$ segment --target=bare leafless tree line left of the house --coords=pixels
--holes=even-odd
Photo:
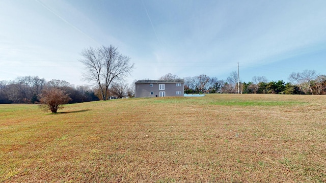
[[[74,86],[68,81],[52,79],[46,81],[38,76],[20,76],[13,81],[0,81],[0,104],[38,104],[41,94],[50,88],[57,88],[68,94],[69,104],[102,100],[100,88]],[[106,91],[107,99],[133,97],[134,90],[124,82],[113,82]]]

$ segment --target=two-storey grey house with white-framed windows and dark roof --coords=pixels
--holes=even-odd
[[[135,97],[183,97],[184,80],[139,80],[135,82]]]

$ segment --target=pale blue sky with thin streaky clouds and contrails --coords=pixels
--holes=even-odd
[[[113,45],[126,82],[206,74],[289,82],[326,74],[326,1],[0,0],[0,81],[83,81],[83,49]]]

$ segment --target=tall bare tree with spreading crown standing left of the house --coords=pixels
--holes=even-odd
[[[133,69],[130,58],[120,54],[112,45],[84,49],[82,56],[84,58],[79,61],[86,69],[84,79],[96,83],[102,100],[107,99],[108,87],[112,81],[123,80]]]

